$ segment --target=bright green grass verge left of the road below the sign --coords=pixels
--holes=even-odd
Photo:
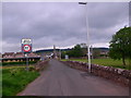
[[[2,70],[2,96],[15,96],[39,75],[38,72],[25,71],[25,68]]]

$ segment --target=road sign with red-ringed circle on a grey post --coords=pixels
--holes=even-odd
[[[22,52],[24,52],[26,58],[26,70],[28,71],[28,57],[27,53],[32,52],[32,39],[23,38],[22,39]]]

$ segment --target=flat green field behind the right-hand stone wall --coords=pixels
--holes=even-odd
[[[87,59],[70,59],[71,61],[81,61],[81,62],[87,62]],[[67,61],[67,60],[62,60]],[[131,70],[131,66],[129,68],[129,60],[126,60],[127,62],[127,70]],[[119,69],[124,69],[122,65],[122,60],[114,60],[114,59],[93,59],[92,60],[93,64],[99,64],[99,65],[105,65],[105,66],[114,66],[114,68],[119,68]]]

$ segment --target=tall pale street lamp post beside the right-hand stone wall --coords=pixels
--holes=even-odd
[[[85,4],[85,11],[86,11],[86,27],[87,27],[87,58],[88,58],[88,72],[91,73],[91,52],[90,52],[90,34],[88,34],[88,19],[87,19],[87,2],[79,2],[79,4]]]

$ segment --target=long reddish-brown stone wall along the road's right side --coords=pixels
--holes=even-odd
[[[87,72],[87,64],[79,61],[61,61],[69,65],[70,68],[78,69],[84,72]],[[97,76],[111,79],[116,83],[120,83],[124,86],[129,86],[131,83],[131,71],[116,69],[112,66],[104,66],[98,64],[92,64],[92,73]]]

